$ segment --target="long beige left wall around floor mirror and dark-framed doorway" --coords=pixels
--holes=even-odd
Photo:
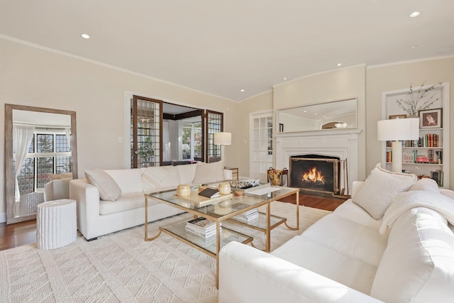
[[[124,167],[125,143],[118,137],[124,137],[125,92],[222,111],[227,131],[238,129],[237,102],[0,39],[1,121],[6,103],[76,111],[79,177],[86,168]],[[5,184],[3,122],[0,150],[0,184]],[[238,162],[237,155],[226,148],[227,164]],[[6,212],[4,194],[2,186],[0,216]]]

